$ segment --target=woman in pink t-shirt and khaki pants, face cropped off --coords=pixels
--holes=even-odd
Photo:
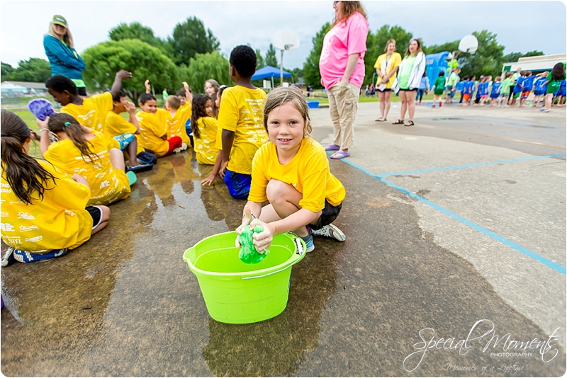
[[[333,142],[325,147],[336,151],[331,159],[350,156],[357,117],[360,88],[364,80],[364,52],[368,21],[360,1],[333,1],[335,22],[323,39],[319,71],[327,89],[333,124]]]

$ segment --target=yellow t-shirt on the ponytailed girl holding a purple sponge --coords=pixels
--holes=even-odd
[[[97,156],[91,162],[89,157],[83,159],[81,151],[70,139],[50,144],[44,154],[47,161],[61,171],[72,175],[77,173],[86,178],[91,187],[91,198],[88,205],[110,205],[130,195],[128,176],[120,169],[113,169],[108,151],[113,148],[111,138],[101,132],[91,130],[94,138],[89,140]]]

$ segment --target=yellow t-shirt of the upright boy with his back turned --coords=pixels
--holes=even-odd
[[[252,173],[252,158],[257,149],[268,141],[268,133],[262,124],[265,102],[266,92],[260,88],[233,86],[223,91],[218,127],[235,132],[228,170],[247,175]]]

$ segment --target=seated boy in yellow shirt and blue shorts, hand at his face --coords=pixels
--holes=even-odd
[[[137,154],[144,151],[138,144],[136,135],[140,134],[140,126],[136,119],[136,105],[126,100],[126,94],[119,91],[118,95],[113,96],[113,108],[106,115],[105,130],[109,137],[113,137],[120,143],[120,150],[124,154],[128,153],[128,169],[136,169],[138,164]],[[128,112],[128,120],[125,120],[120,113]]]

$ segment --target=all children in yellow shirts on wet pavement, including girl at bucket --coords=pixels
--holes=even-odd
[[[1,237],[10,247],[2,265],[62,256],[106,227],[108,205],[130,194],[126,172],[151,168],[155,159],[191,146],[189,120],[198,163],[213,165],[201,183],[210,185],[218,174],[232,197],[248,198],[237,232],[262,224],[264,231],[254,234],[258,251],[286,231],[296,232],[308,251],[313,235],[344,241],[331,224],[344,187],[330,173],[325,150],[309,136],[303,95],[276,88],[266,100],[252,85],[256,55],[248,46],[235,47],[229,62],[235,86],[220,88],[214,103],[208,94],[193,96],[184,83],[177,96],[167,97],[166,109],[158,109],[146,81],[135,113],[120,91],[132,74],[119,71],[111,91],[89,98],[79,96],[65,76],[48,79],[47,90],[62,108],[37,120],[39,136],[2,110]],[[45,160],[28,155],[32,140],[40,142]],[[265,200],[270,205],[262,207]]]

